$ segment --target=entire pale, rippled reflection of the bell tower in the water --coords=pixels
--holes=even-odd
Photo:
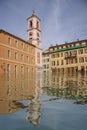
[[[34,98],[29,101],[26,120],[33,125],[40,124],[41,117],[41,89],[42,89],[42,73],[37,71],[36,73],[36,87]]]

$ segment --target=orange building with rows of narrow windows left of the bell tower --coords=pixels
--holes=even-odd
[[[11,77],[11,74],[13,76]],[[0,30],[0,76],[13,80],[35,74],[35,46]]]

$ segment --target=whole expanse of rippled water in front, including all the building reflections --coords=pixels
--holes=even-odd
[[[87,130],[87,75],[0,79],[0,130]]]

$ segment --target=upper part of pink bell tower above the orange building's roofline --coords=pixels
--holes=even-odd
[[[40,48],[40,19],[36,16],[34,11],[32,13],[32,16],[27,19],[27,23],[28,42]]]

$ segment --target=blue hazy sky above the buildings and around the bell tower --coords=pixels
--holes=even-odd
[[[0,29],[27,40],[27,18],[41,19],[41,48],[87,39],[87,0],[0,0]]]

